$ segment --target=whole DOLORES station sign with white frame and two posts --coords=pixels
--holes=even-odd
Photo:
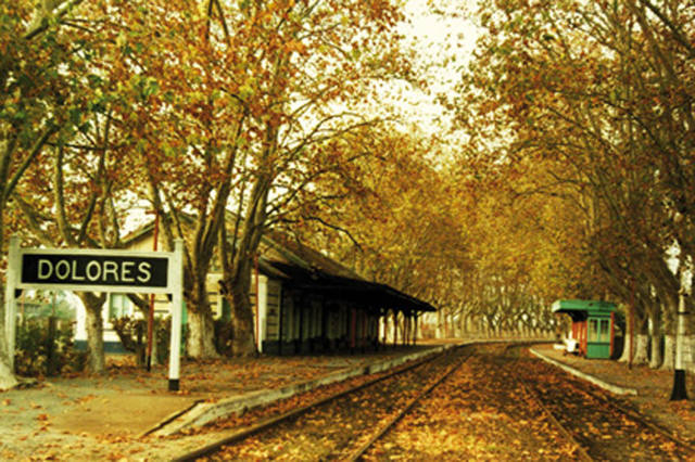
[[[10,239],[5,286],[5,336],[14,370],[17,288],[45,288],[122,294],[172,294],[169,389],[179,389],[184,241],[174,252],[129,252],[84,248],[20,248]]]

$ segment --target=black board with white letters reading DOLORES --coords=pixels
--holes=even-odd
[[[166,287],[168,258],[115,255],[22,255],[23,284]]]

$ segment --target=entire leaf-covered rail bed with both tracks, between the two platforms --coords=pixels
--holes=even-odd
[[[450,350],[178,460],[692,460],[695,448],[509,345]]]

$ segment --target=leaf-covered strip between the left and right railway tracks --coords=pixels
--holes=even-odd
[[[479,345],[364,457],[381,460],[576,460],[547,415],[522,399],[504,359],[509,345]]]

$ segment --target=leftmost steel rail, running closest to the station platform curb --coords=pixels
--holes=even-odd
[[[429,355],[429,356],[427,356],[427,357],[425,357],[422,359],[414,361],[410,364],[407,364],[407,365],[402,367],[402,368],[397,368],[397,369],[395,369],[395,370],[393,370],[391,372],[388,372],[388,373],[386,373],[386,374],[383,374],[383,375],[381,375],[379,377],[376,377],[376,378],[372,378],[370,381],[367,381],[367,382],[365,382],[363,384],[356,385],[354,387],[348,388],[348,389],[342,390],[342,392],[338,392],[338,393],[336,393],[333,395],[330,395],[328,397],[318,399],[318,400],[316,400],[314,402],[311,402],[311,403],[308,403],[306,406],[302,406],[300,408],[292,409],[292,410],[290,410],[288,412],[285,412],[282,414],[265,419],[265,420],[263,420],[261,422],[257,422],[257,423],[255,423],[253,425],[247,426],[247,427],[244,427],[242,429],[235,431],[231,434],[229,434],[227,436],[224,436],[223,438],[220,438],[220,439],[218,439],[216,441],[213,441],[213,442],[207,444],[207,445],[205,445],[205,446],[203,446],[201,448],[198,448],[198,449],[194,449],[194,450],[192,450],[190,452],[187,452],[187,453],[174,459],[173,461],[174,462],[188,462],[188,461],[194,461],[195,459],[199,459],[199,458],[202,458],[202,457],[205,457],[205,455],[210,455],[212,453],[215,453],[215,452],[219,451],[224,446],[228,446],[228,445],[232,445],[235,442],[239,442],[239,441],[241,441],[243,439],[247,439],[248,437],[250,437],[252,435],[255,435],[255,434],[261,433],[261,432],[263,432],[265,429],[271,428],[271,427],[280,424],[281,422],[291,420],[293,418],[298,418],[298,416],[304,414],[305,412],[307,412],[307,411],[309,411],[312,409],[319,408],[320,406],[324,406],[324,405],[326,405],[328,402],[337,400],[337,399],[339,399],[341,397],[348,396],[348,395],[350,395],[352,393],[358,392],[361,389],[364,389],[364,388],[367,388],[369,386],[372,386],[372,385],[375,385],[375,384],[377,384],[379,382],[386,381],[387,378],[391,378],[391,377],[393,377],[395,375],[403,374],[405,372],[414,370],[414,369],[416,369],[416,368],[418,368],[418,367],[420,367],[422,364],[432,362],[438,358],[444,357],[445,355],[450,355],[453,351],[455,351],[456,349],[459,349],[459,348],[463,348],[463,347],[464,346],[456,346],[456,347],[451,348],[451,349],[446,349],[446,350],[443,350],[443,351],[440,351],[440,352],[435,352],[435,354]]]

